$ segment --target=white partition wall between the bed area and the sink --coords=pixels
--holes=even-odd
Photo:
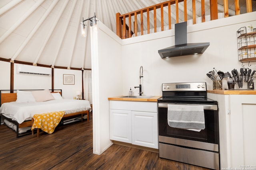
[[[108,97],[122,94],[122,46],[116,34],[100,21],[97,25],[98,31],[91,35],[93,153],[101,154],[112,145]]]

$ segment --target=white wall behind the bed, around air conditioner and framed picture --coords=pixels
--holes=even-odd
[[[14,90],[44,90],[52,89],[52,76],[18,74],[14,63]],[[38,66],[35,66],[38,68]],[[0,61],[0,90],[10,90],[10,62]],[[51,71],[52,68],[46,68]],[[75,84],[63,84],[63,74],[74,74]],[[63,98],[72,99],[76,91],[82,92],[82,70],[67,70],[54,68],[54,89],[62,89]]]

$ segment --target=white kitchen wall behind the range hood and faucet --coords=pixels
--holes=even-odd
[[[130,87],[135,95],[139,89],[140,66],[143,66],[142,92],[147,96],[162,95],[162,83],[169,82],[206,82],[212,90],[212,80],[206,73],[216,68],[223,72],[239,70],[237,35],[240,27],[256,27],[256,12],[222,18],[219,20],[189,25],[188,43],[210,42],[210,46],[201,55],[190,55],[161,59],[159,49],[174,45],[174,29],[123,40],[122,70],[123,95]],[[255,63],[250,63],[256,70]],[[248,67],[248,63],[244,63]],[[226,79],[223,88],[228,88]],[[122,95],[120,94],[120,95]]]

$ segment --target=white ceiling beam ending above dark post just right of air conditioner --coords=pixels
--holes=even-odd
[[[59,41],[59,44],[58,44],[58,47],[57,47],[57,51],[56,51],[56,54],[55,54],[54,59],[53,59],[53,62],[52,62],[52,66],[55,65],[56,60],[57,60],[57,58],[58,58],[58,55],[59,55],[59,53],[60,53],[60,48],[61,48],[61,46],[62,46],[64,37],[65,37],[66,32],[67,32],[67,29],[68,29],[69,22],[70,22],[70,20],[71,20],[72,14],[73,14],[73,12],[74,12],[74,9],[75,9],[75,6],[76,6],[76,1],[77,1],[77,0],[74,0],[74,1],[73,1],[72,6],[71,6],[71,8],[70,8],[70,11],[69,11],[69,14],[68,14],[68,18],[66,19],[66,23],[65,23],[65,25],[64,25],[64,29],[63,29],[62,34],[61,34],[61,36],[60,36],[60,41]]]

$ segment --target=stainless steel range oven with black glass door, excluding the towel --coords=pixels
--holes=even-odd
[[[171,127],[168,106],[200,106],[205,128]],[[190,112],[186,113],[190,114]],[[218,170],[220,167],[218,103],[207,98],[205,82],[164,83],[158,99],[159,157]]]

